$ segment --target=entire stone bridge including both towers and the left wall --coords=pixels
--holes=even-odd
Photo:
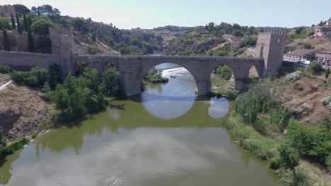
[[[281,66],[286,45],[286,32],[262,32],[257,38],[255,58],[202,57],[202,56],[77,56],[72,52],[74,35],[72,30],[51,29],[52,54],[0,51],[0,63],[14,68],[28,69],[35,66],[48,68],[57,63],[66,75],[84,66],[97,68],[100,73],[115,65],[122,74],[122,86],[127,96],[141,93],[141,81],[151,68],[162,63],[175,63],[186,68],[193,75],[197,92],[206,95],[211,91],[210,75],[218,66],[229,66],[236,83],[236,89],[248,87],[249,70],[257,69],[260,77],[277,72]]]

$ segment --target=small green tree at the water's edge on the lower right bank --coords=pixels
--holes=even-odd
[[[288,168],[293,171],[294,177],[296,177],[296,166],[299,165],[298,154],[296,154],[294,149],[290,148],[286,144],[281,145],[278,151],[281,158],[281,164],[285,168]]]

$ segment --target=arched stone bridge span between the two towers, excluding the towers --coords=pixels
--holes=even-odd
[[[122,86],[127,96],[141,93],[141,81],[153,67],[162,63],[175,63],[186,68],[194,77],[200,95],[211,91],[211,73],[226,65],[231,68],[236,89],[247,89],[249,70],[254,66],[262,74],[263,58],[196,57],[196,56],[72,56],[71,71],[77,64],[96,68],[102,72],[108,66],[117,66],[122,75]]]

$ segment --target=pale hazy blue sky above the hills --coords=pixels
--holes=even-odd
[[[50,4],[64,16],[91,17],[120,28],[209,22],[296,27],[331,17],[330,0],[0,0],[0,4],[24,4],[28,8]]]

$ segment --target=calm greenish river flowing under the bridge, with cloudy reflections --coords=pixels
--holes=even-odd
[[[183,68],[163,75],[167,84],[112,101],[107,111],[78,126],[50,130],[8,156],[1,163],[0,184],[282,185],[222,127],[231,101],[196,98],[192,75]]]

